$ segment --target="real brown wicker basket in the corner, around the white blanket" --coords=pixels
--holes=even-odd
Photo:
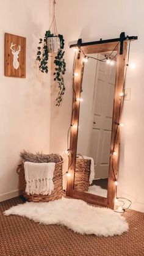
[[[63,188],[62,188],[62,164],[63,161],[56,163],[54,169],[53,183],[54,183],[54,191],[52,191],[51,195],[41,195],[41,194],[30,194],[27,195],[25,192],[26,189],[26,180],[24,177],[24,162],[19,164],[19,169],[23,173],[23,196],[27,201],[32,202],[48,202],[62,198]]]

